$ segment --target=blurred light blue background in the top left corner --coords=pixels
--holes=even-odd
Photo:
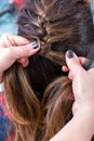
[[[25,0],[0,0],[0,36],[4,33],[16,34],[16,13]]]

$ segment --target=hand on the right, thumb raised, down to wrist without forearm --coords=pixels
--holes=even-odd
[[[94,68],[85,70],[81,59],[72,52],[66,53],[66,63],[69,69],[69,79],[72,80],[75,95],[73,114],[78,108],[90,108],[94,112]]]

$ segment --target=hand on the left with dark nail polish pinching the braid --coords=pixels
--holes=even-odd
[[[38,50],[38,42],[30,43],[21,36],[3,35],[0,38],[0,82],[3,72],[11,67],[15,61],[25,67],[29,64],[28,57]]]

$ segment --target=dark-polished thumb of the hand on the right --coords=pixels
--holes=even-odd
[[[79,57],[71,50],[66,52],[66,63],[72,76],[76,76],[78,73],[85,72],[80,64]]]

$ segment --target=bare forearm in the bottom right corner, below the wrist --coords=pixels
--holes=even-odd
[[[50,141],[91,141],[94,133],[94,111],[78,111],[72,119]]]

